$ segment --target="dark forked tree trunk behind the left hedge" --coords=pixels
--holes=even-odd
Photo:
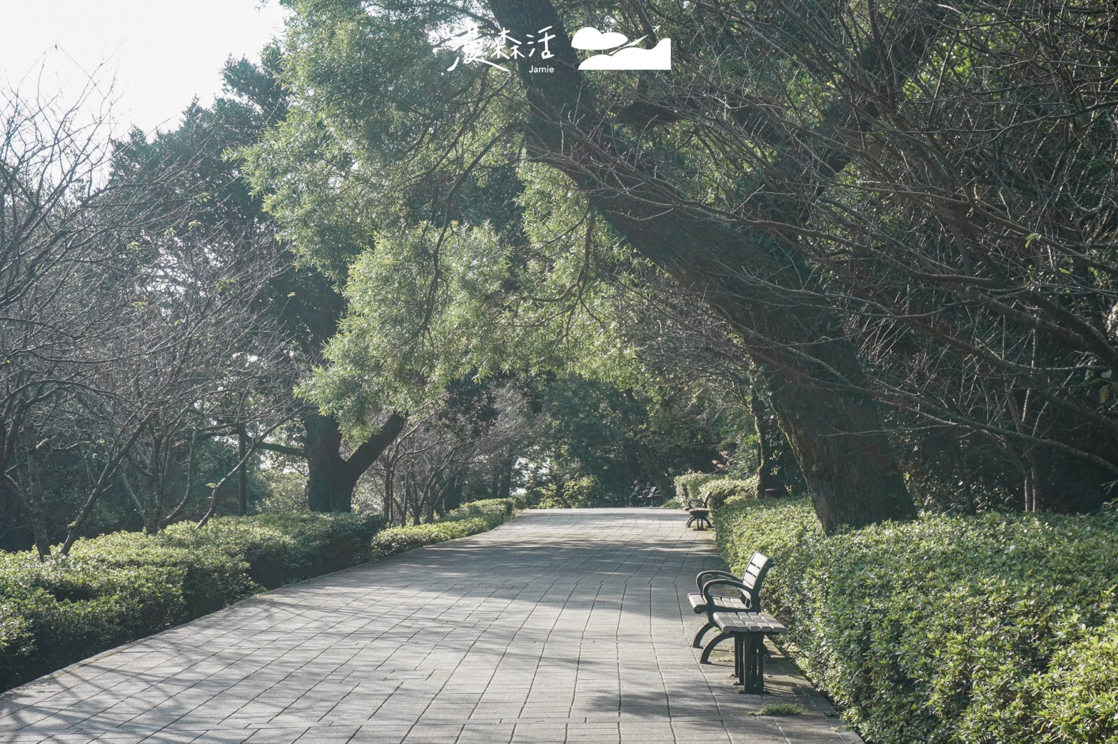
[[[392,413],[380,430],[361,443],[349,459],[341,455],[338,422],[318,412],[303,419],[306,430],[306,504],[312,512],[351,512],[353,488],[369,466],[404,428],[404,417]]]

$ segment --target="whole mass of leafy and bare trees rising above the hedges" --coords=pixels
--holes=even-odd
[[[828,532],[1112,498],[1112,9],[286,4],[173,131],[6,99],[0,500],[42,550],[264,470],[397,521],[716,465]],[[584,27],[671,69],[580,69]]]

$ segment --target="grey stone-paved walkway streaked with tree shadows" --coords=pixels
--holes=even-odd
[[[11,690],[0,742],[858,742],[787,664],[699,664],[680,512],[528,512],[286,586]],[[798,702],[800,716],[752,716]]]

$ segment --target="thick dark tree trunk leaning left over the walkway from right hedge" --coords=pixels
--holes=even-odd
[[[552,74],[519,66],[531,106],[532,154],[575,181],[590,203],[645,258],[707,302],[770,370],[770,401],[799,459],[824,530],[916,515],[855,349],[817,298],[779,233],[742,232],[688,206],[642,170],[639,156],[608,136],[587,101],[570,39],[546,0],[491,0],[512,31],[556,35]],[[605,132],[605,133],[604,133]]]

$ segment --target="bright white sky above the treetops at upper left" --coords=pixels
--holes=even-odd
[[[257,59],[283,17],[277,0],[0,0],[0,86],[29,93],[41,68],[44,93],[72,101],[94,74],[113,84],[115,134],[165,131],[221,93],[227,57]]]

